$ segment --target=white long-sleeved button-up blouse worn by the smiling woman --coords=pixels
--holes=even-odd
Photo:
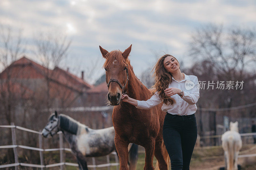
[[[196,102],[199,99],[199,85],[198,79],[193,75],[185,75],[184,80],[180,82],[176,81],[172,77],[172,83],[169,85],[170,87],[175,87],[180,90],[183,90],[184,96],[181,98],[178,94],[174,94],[171,96],[172,99],[176,100],[176,103],[173,105],[166,105],[163,103],[162,110],[164,112],[168,112],[172,115],[192,115],[196,112]],[[140,109],[150,109],[162,102],[159,97],[159,93],[156,92],[150,99],[147,101],[137,100],[138,106]]]

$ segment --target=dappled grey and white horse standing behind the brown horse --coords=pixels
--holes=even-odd
[[[58,131],[62,131],[64,138],[68,141],[72,153],[76,156],[79,169],[88,170],[86,157],[106,156],[116,151],[113,126],[105,129],[90,129],[67,115],[58,115],[55,111],[42,130],[42,134],[44,137],[50,137]],[[129,156],[130,170],[135,170],[138,145],[131,145]]]

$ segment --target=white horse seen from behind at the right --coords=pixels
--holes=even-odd
[[[221,136],[222,148],[227,162],[227,170],[237,170],[237,158],[242,148],[241,135],[238,133],[238,122],[230,122],[230,130]]]

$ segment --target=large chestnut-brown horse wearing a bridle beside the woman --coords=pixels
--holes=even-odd
[[[153,154],[161,170],[167,170],[166,160],[169,158],[163,142],[163,124],[165,113],[161,105],[149,110],[142,110],[121,101],[121,93],[127,92],[129,97],[137,100],[148,100],[152,96],[148,88],[135,76],[128,59],[132,45],[123,53],[119,50],[108,52],[100,47],[106,59],[106,82],[108,100],[115,105],[112,121],[115,128],[115,144],[119,155],[120,170],[128,170],[128,144],[135,143],[145,148],[144,170],[153,170]],[[169,165],[169,160],[168,160]],[[158,166],[156,167],[158,169]]]

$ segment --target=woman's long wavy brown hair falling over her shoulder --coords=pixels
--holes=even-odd
[[[164,100],[164,104],[173,105],[174,103],[176,103],[176,101],[174,99],[172,99],[170,96],[166,96],[164,93],[164,90],[166,88],[168,88],[170,83],[172,83],[172,74],[167,72],[167,70],[164,68],[164,59],[167,56],[172,56],[172,55],[170,55],[170,54],[163,55],[161,58],[159,58],[159,60],[156,62],[156,65],[153,68],[153,70],[155,69],[154,77],[155,77],[155,82],[156,82],[155,85],[153,85],[153,88],[155,88],[153,93],[159,92],[159,97],[162,100]],[[172,57],[175,58],[174,56],[172,56]],[[177,59],[175,58],[175,60],[177,60]],[[179,61],[178,61],[178,63],[179,63]]]

